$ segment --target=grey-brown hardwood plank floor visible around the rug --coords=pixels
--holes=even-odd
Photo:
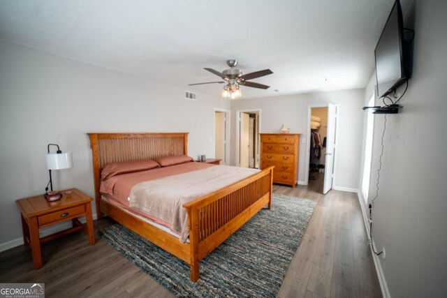
[[[321,193],[322,174],[308,186],[274,186],[274,193],[316,200],[316,208],[278,297],[381,297],[357,195]],[[113,223],[95,221],[95,230]],[[114,248],[85,232],[42,245],[44,266],[33,269],[31,251],[0,253],[0,283],[45,283],[46,297],[173,297]]]

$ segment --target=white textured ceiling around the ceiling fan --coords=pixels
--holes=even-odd
[[[365,87],[393,0],[0,1],[0,39],[190,91],[270,68],[243,98]]]

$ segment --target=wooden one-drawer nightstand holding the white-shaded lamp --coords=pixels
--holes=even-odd
[[[66,195],[66,191],[71,191],[71,195]],[[91,216],[91,201],[93,199],[76,188],[61,191],[61,194],[62,198],[54,202],[47,202],[43,195],[15,201],[22,213],[23,240],[25,245],[31,246],[34,269],[43,266],[41,254],[41,244],[43,242],[83,229],[87,232],[89,244],[95,244],[93,217]],[[82,225],[78,220],[78,216],[83,215],[87,220],[86,225]],[[51,234],[42,239],[39,237],[39,228],[61,223],[68,219],[73,222],[73,228]]]

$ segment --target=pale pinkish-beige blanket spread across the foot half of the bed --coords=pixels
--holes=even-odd
[[[167,223],[184,243],[189,236],[183,204],[259,172],[245,167],[217,165],[203,170],[141,182],[133,186],[129,206]]]

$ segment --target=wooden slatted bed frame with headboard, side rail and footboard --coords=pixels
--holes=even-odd
[[[188,133],[88,133],[93,154],[96,214],[101,212],[153,244],[189,263],[191,281],[199,278],[199,262],[266,204],[272,208],[273,167],[186,203],[189,243],[138,216],[101,200],[101,170],[108,163],[187,155]]]

